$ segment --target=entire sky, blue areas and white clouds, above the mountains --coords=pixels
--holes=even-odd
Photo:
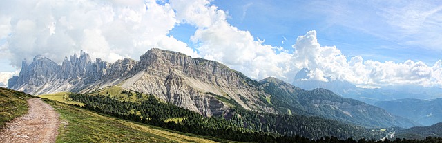
[[[157,47],[247,76],[442,87],[442,1],[3,0],[0,82],[37,55],[115,62]]]

